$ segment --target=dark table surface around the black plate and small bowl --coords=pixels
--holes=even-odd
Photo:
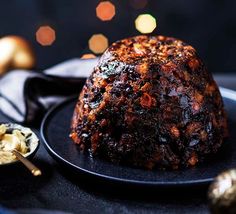
[[[236,75],[215,75],[215,79],[236,90]],[[0,114],[0,121],[9,119]],[[33,129],[39,135],[39,127]],[[43,145],[33,161],[42,169],[41,177],[31,176],[21,164],[0,169],[1,205],[71,213],[208,213],[207,186],[144,189],[90,180],[57,164]]]

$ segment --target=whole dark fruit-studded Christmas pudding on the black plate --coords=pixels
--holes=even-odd
[[[196,50],[165,36],[113,43],[87,79],[71,138],[84,152],[142,168],[194,166],[227,133],[219,89]]]

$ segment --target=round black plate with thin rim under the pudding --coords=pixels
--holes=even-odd
[[[115,165],[89,155],[81,154],[69,138],[70,122],[76,98],[71,98],[45,116],[41,135],[50,155],[78,172],[84,172],[113,182],[149,186],[207,184],[223,170],[236,166],[236,101],[224,98],[228,113],[230,138],[214,160],[195,168],[176,171],[148,171]]]

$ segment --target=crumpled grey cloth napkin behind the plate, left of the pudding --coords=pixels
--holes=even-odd
[[[43,72],[14,70],[0,79],[0,110],[31,123],[63,99],[78,94],[98,59],[72,59]]]

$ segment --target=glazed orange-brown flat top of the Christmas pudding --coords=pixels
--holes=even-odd
[[[181,40],[165,36],[136,36],[113,43],[103,55],[127,64],[183,62],[196,55],[195,49]]]

